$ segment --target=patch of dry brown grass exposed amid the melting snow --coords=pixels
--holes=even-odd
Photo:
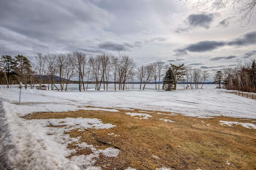
[[[200,119],[182,115],[160,115],[147,113],[149,119],[135,119],[127,112],[76,111],[64,113],[38,113],[25,119],[60,119],[66,117],[98,118],[103,123],[117,125],[110,129],[88,129],[104,142],[111,142],[120,148],[117,158],[100,155],[95,166],[104,170],[122,170],[133,167],[140,170],[154,170],[167,167],[175,170],[192,169],[256,169],[256,129],[242,126],[228,127],[219,121],[252,123],[255,120],[239,120],[230,117]],[[143,113],[143,112],[141,112]],[[164,112],[161,112],[164,113]],[[170,113],[166,113],[170,114]],[[175,123],[159,119],[170,119]],[[204,121],[204,123],[202,122]],[[207,125],[208,124],[208,125]],[[114,133],[114,135],[108,135]],[[84,130],[74,129],[70,137],[81,136],[79,142],[93,144],[99,149],[110,147],[97,142],[94,136]],[[77,143],[68,147],[77,149]],[[76,154],[90,154],[88,148],[77,150]],[[158,158],[156,157],[158,156]],[[228,160],[231,164],[226,164]]]

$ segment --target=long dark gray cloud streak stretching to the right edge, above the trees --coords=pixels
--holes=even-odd
[[[231,41],[202,41],[202,42],[197,42],[193,43],[190,45],[187,45],[184,48],[178,48],[174,49],[174,52],[176,53],[176,56],[179,55],[186,55],[187,51],[190,52],[205,52],[205,51],[212,51],[214,49],[218,49],[220,47],[224,47],[226,45],[228,46],[245,46],[245,45],[254,45],[256,44],[256,32],[248,32],[234,40]],[[234,58],[234,57],[231,57]],[[230,58],[227,58],[230,59]]]

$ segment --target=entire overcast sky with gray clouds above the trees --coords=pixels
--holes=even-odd
[[[177,1],[177,0],[176,0]],[[190,0],[0,0],[0,55],[82,51],[162,60],[208,70],[256,58],[256,19],[212,13]]]

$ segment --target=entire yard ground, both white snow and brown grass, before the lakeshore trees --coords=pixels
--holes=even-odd
[[[227,158],[231,169],[248,167],[249,163],[255,168],[256,101],[224,91],[22,89],[18,105],[19,89],[0,89],[0,158],[14,169],[107,169],[104,166],[110,159],[126,160],[123,168],[138,169],[146,161],[141,169],[197,169],[206,167],[207,158],[217,154],[218,158],[208,160],[215,168],[214,161],[224,168]],[[29,115],[43,112],[48,114]],[[54,118],[57,113],[51,112],[64,113]],[[101,146],[92,137],[85,140],[91,134],[84,129],[120,149]],[[244,144],[238,149],[241,140]],[[87,154],[78,154],[85,151]],[[134,160],[127,159],[128,154]],[[239,154],[243,155],[240,162],[236,160]],[[241,163],[245,158],[246,162]],[[196,159],[202,161],[196,163]]]

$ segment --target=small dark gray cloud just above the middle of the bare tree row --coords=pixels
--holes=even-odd
[[[133,45],[130,43],[115,43],[112,41],[107,41],[100,43],[98,47],[109,51],[128,51],[131,47],[133,47]]]

